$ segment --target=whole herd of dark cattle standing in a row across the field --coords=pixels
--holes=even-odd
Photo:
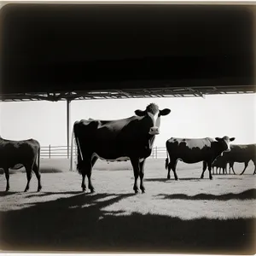
[[[136,115],[126,119],[99,120],[82,119],[73,125],[71,145],[71,169],[73,167],[73,141],[78,148],[77,170],[82,175],[81,187],[86,189],[85,177],[88,178],[90,192],[95,189],[91,183],[91,171],[96,160],[120,161],[131,160],[134,172],[135,193],[138,192],[137,179],[140,177],[140,189],[145,192],[143,183],[145,160],[152,152],[154,138],[160,134],[160,117],[171,113],[169,108],[160,110],[151,103],[145,110],[137,109]],[[208,167],[209,178],[212,179],[212,167],[222,168],[226,172],[227,163],[233,172],[234,162],[244,162],[245,172],[248,162],[253,160],[256,166],[256,144],[230,145],[235,137],[207,137],[201,139],[175,138],[167,140],[166,159],[167,178],[170,171],[177,180],[177,160],[185,163],[203,162],[201,178]],[[170,159],[170,162],[169,162]],[[0,137],[0,168],[6,177],[6,191],[9,191],[9,168],[26,169],[26,189],[29,189],[32,171],[38,178],[38,191],[42,189],[39,173],[40,144],[34,139],[10,141]],[[234,172],[235,173],[235,172]],[[256,167],[253,174],[256,173]]]

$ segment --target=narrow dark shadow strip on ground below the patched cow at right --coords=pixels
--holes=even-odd
[[[256,199],[256,189],[247,189],[241,193],[228,193],[223,195],[212,195],[212,194],[197,194],[197,195],[185,195],[185,194],[173,194],[173,195],[166,195],[166,194],[159,194],[156,197],[160,197],[161,199],[179,199],[179,200],[208,200],[208,201],[228,201],[228,200],[250,200]]]

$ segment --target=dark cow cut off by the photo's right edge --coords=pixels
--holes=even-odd
[[[241,174],[243,174],[247,169],[249,161],[253,160],[253,164],[254,164],[253,174],[256,173],[256,144],[246,144],[246,145],[231,144],[230,152],[225,152],[223,157],[230,164],[230,168],[234,173],[235,173],[234,163],[235,162],[244,163],[244,169],[241,172]]]

